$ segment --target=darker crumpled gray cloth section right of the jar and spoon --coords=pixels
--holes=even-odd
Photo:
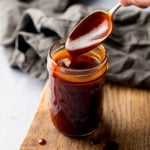
[[[150,13],[122,11],[104,42],[109,53],[107,80],[134,87],[150,87]]]

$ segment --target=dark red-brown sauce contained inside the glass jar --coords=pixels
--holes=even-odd
[[[90,55],[80,55],[72,62],[66,52],[54,57],[59,66],[75,69],[87,69],[97,66],[98,61]],[[73,58],[75,59],[75,58]],[[68,78],[62,79],[60,68],[54,67],[50,78],[51,116],[58,130],[68,136],[86,135],[99,124],[102,115],[102,86],[104,78],[77,83]],[[69,80],[69,81],[68,81]]]

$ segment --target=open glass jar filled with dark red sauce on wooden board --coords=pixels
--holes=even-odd
[[[56,41],[47,57],[51,118],[63,134],[86,136],[95,131],[102,119],[108,56],[99,45],[72,57],[65,42],[66,39]]]

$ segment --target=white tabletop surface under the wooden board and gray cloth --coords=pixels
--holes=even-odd
[[[109,9],[117,0],[91,0],[87,5]],[[17,150],[39,104],[44,81],[9,67],[5,49],[0,46],[0,146]]]

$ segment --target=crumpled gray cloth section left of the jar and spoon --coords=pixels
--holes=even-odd
[[[47,78],[46,57],[50,46],[66,37],[91,12],[91,8],[70,6],[71,3],[71,0],[0,2],[1,44],[8,50],[12,67],[39,79]]]

